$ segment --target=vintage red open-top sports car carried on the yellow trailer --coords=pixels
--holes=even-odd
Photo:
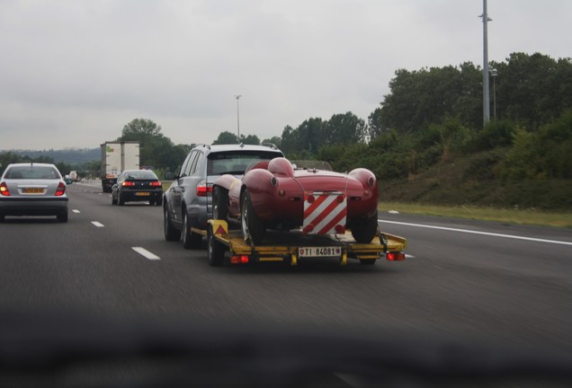
[[[366,169],[349,173],[295,169],[278,157],[249,167],[242,180],[221,175],[213,184],[213,216],[240,223],[259,244],[266,229],[344,234],[371,242],[378,227],[378,181]]]

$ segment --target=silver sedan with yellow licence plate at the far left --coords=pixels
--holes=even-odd
[[[5,216],[57,216],[67,222],[67,186],[50,163],[8,164],[0,178],[0,221]]]

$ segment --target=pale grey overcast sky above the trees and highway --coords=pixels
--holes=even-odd
[[[0,150],[260,139],[351,110],[398,68],[482,66],[482,0],[0,0]],[[489,59],[572,57],[572,1],[488,0]],[[502,76],[502,75],[499,75]]]

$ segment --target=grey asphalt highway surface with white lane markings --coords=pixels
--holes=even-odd
[[[162,208],[69,187],[67,224],[0,224],[0,309],[306,327],[572,354],[572,231],[380,214],[407,260],[212,268],[166,242]]]

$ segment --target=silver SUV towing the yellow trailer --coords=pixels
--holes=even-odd
[[[284,156],[275,145],[195,145],[176,172],[163,195],[165,240],[183,242],[183,247],[200,248],[202,235],[212,217],[212,183],[222,174],[244,175],[248,165]]]

